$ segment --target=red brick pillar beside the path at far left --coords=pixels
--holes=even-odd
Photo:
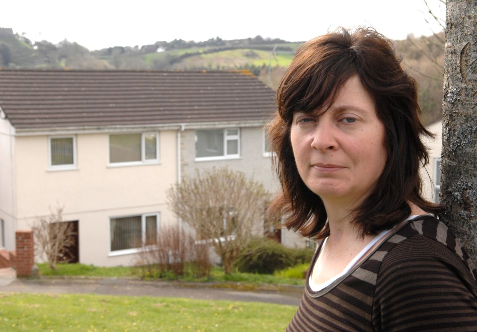
[[[12,267],[18,277],[29,277],[35,265],[33,230],[17,230],[15,232],[15,253]]]

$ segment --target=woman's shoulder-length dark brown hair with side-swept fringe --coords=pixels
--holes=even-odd
[[[353,222],[360,234],[376,234],[406,219],[408,202],[437,214],[442,206],[421,197],[419,168],[429,161],[420,135],[424,127],[417,104],[417,85],[400,66],[391,42],[373,29],[345,29],[305,43],[284,74],[277,92],[278,110],[268,125],[274,166],[282,191],[270,213],[284,216],[287,228],[323,238],[329,234],[326,211],[318,195],[301,179],[290,142],[296,111],[314,112],[331,105],[343,84],[357,75],[375,101],[385,126],[387,161],[374,191],[357,207]]]

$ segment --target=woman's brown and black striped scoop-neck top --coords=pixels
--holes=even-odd
[[[420,216],[329,286],[315,292],[307,282],[287,332],[477,331],[476,279],[447,226]]]

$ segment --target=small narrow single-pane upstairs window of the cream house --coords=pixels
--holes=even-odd
[[[48,148],[51,169],[76,168],[75,136],[50,137]]]

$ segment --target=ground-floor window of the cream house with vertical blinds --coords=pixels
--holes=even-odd
[[[111,252],[133,253],[143,244],[157,244],[158,229],[159,214],[111,218]]]

